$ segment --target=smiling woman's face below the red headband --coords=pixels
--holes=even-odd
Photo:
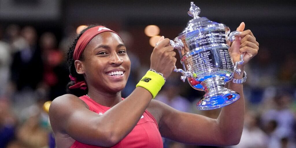
[[[87,85],[110,94],[121,91],[128,80],[131,61],[121,38],[112,32],[95,36],[83,52]]]

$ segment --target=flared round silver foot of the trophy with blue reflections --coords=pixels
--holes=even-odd
[[[201,84],[205,87],[206,94],[196,104],[200,110],[213,110],[237,101],[240,95],[225,88],[225,77],[209,78]]]

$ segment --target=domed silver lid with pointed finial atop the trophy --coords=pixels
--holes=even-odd
[[[212,22],[206,17],[199,17],[198,15],[200,14],[200,8],[197,7],[193,2],[191,2],[190,9],[188,11],[188,15],[193,17],[192,20],[190,20],[187,23],[186,28],[182,31],[181,34],[191,34],[191,33],[196,33],[196,31],[200,31],[201,28],[210,28],[210,27],[215,27],[215,26],[220,26],[220,27],[227,27],[224,24],[220,24],[217,22]]]

